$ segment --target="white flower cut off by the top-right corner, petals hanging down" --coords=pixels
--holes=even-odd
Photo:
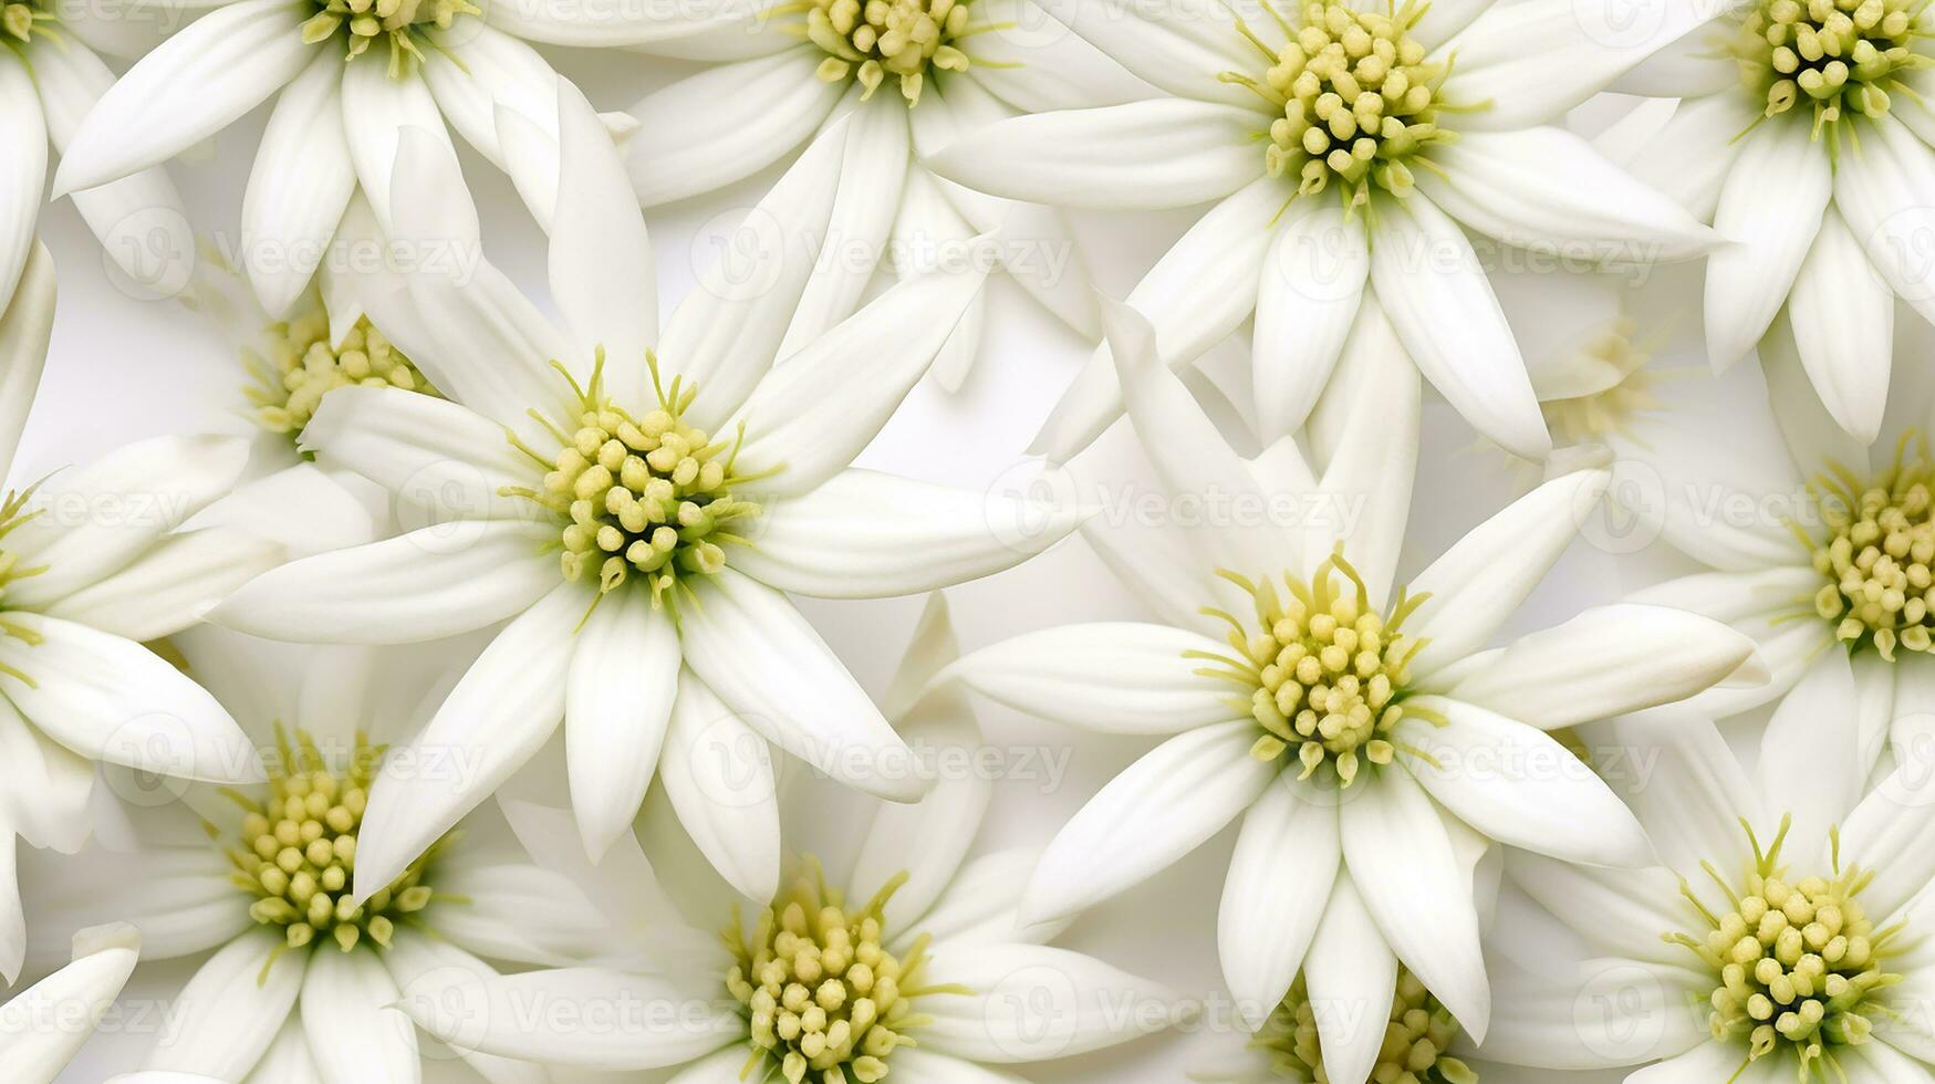
[[[1707,352],[1751,354],[1786,306],[1815,393],[1869,443],[1889,403],[1894,298],[1935,317],[1916,246],[1935,201],[1935,48],[1906,0],[1743,0],[1622,87],[1680,99],[1633,170],[1724,238]]]

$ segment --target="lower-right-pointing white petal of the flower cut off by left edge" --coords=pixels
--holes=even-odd
[[[215,697],[145,647],[87,625],[14,612],[41,637],[0,641],[0,662],[33,678],[6,695],[54,741],[91,759],[172,778],[261,782],[261,757]]]

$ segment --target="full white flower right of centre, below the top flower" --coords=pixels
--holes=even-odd
[[[1045,629],[948,670],[1029,714],[1167,738],[1049,844],[1024,919],[1111,898],[1240,819],[1217,939],[1252,1030],[1304,974],[1310,997],[1366,1007],[1318,1016],[1329,1078],[1362,1080],[1384,1036],[1349,1024],[1385,1018],[1403,966],[1482,1036],[1474,865],[1490,842],[1651,861],[1639,823],[1548,732],[1701,691],[1751,668],[1751,643],[1668,608],[1606,606],[1486,650],[1604,470],[1538,486],[1393,588],[1418,379],[1376,304],[1318,406],[1320,468],[1293,439],[1238,459],[1149,325],[1105,316],[1163,488],[1231,511],[1186,534],[1086,532],[1163,623]],[[1273,494],[1322,511],[1260,515],[1283,507]]]

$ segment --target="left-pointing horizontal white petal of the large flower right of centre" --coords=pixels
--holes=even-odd
[[[1194,654],[1192,654],[1194,652]],[[1180,734],[1225,722],[1235,687],[1200,674],[1231,647],[1149,623],[1058,625],[1000,641],[950,666],[975,693],[1101,734]]]

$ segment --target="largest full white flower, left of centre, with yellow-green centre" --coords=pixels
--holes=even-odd
[[[811,256],[793,244],[733,254],[660,335],[639,203],[590,106],[569,87],[563,101],[550,263],[563,325],[488,263],[372,283],[373,323],[451,399],[344,387],[304,430],[323,463],[455,509],[457,523],[290,563],[215,617],[329,643],[511,619],[412,741],[461,749],[476,770],[455,784],[377,780],[360,892],[484,801],[561,718],[590,854],[631,823],[660,749],[693,741],[720,701],[745,716],[733,724],[743,739],[722,745],[735,770],[770,772],[753,755],[770,741],[859,790],[919,798],[900,738],[782,592],[929,590],[1014,565],[1080,519],[848,467],[981,275],[902,283],[776,366]],[[401,155],[424,176],[455,168],[414,130]],[[399,192],[422,211],[399,221],[474,238],[474,213],[449,192]],[[795,196],[780,186],[760,213],[789,219]],[[1004,534],[1002,523],[1037,530]],[[770,898],[776,807],[726,807],[687,774],[662,778],[718,869]]]

